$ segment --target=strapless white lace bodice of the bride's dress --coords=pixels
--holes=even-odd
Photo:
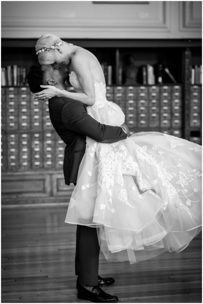
[[[69,74],[70,84],[73,86],[74,90],[78,93],[83,93],[83,89],[80,86],[77,75],[74,71]],[[95,89],[95,104],[103,104],[106,102],[106,85],[103,82],[94,81]]]

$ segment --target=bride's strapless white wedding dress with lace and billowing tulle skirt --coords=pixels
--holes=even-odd
[[[74,72],[70,82],[82,92]],[[105,85],[94,85],[88,114],[122,125],[124,114],[107,101]],[[111,261],[135,263],[183,250],[201,231],[201,146],[158,132],[112,144],[87,137],[65,222],[97,227]]]

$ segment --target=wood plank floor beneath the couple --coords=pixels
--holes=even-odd
[[[66,207],[2,209],[2,303],[72,303],[75,225],[64,223]],[[181,253],[164,253],[138,264],[108,262],[103,288],[122,303],[202,302],[201,234]]]

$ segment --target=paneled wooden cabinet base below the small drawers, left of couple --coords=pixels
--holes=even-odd
[[[2,173],[2,206],[67,204],[74,185],[65,185],[61,171]]]

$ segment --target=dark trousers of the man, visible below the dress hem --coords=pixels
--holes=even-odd
[[[100,246],[96,228],[77,225],[75,274],[79,284],[98,285]]]

